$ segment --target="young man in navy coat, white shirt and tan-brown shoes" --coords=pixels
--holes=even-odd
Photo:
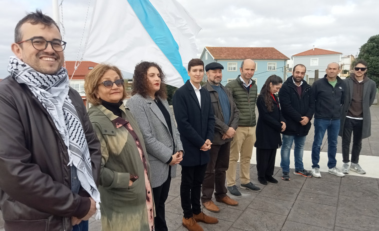
[[[209,91],[200,86],[204,76],[204,62],[191,59],[188,63],[190,79],[173,96],[175,120],[183,144],[184,155],[180,198],[183,209],[182,224],[189,231],[202,231],[197,222],[218,223],[201,211],[201,184],[209,162],[209,150],[214,135],[214,115]]]

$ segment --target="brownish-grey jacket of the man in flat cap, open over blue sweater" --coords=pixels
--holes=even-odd
[[[232,92],[220,84],[221,89],[223,89],[228,96],[229,104],[230,104],[230,119],[226,124],[224,123],[224,115],[222,114],[221,104],[219,102],[218,93],[213,89],[212,85],[207,81],[203,87],[207,89],[211,95],[211,104],[213,108],[215,124],[214,124],[214,138],[212,143],[217,145],[222,145],[227,142],[232,141],[232,139],[223,140],[222,136],[229,129],[229,127],[234,128],[234,130],[238,127],[239,120],[239,112],[237,106],[234,103]]]

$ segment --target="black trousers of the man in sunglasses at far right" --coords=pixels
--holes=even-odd
[[[363,120],[345,119],[342,133],[342,162],[349,162],[350,141],[352,137],[351,163],[358,164],[360,150],[362,149],[362,125]]]

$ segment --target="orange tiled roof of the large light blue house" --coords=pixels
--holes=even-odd
[[[274,47],[205,47],[216,60],[220,59],[256,59],[256,60],[287,60],[284,54]]]

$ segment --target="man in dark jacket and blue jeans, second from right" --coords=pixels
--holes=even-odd
[[[326,130],[328,172],[337,177],[345,176],[335,167],[337,164],[335,154],[337,152],[339,119],[341,117],[341,107],[344,101],[344,85],[343,81],[338,77],[340,71],[338,63],[329,63],[325,70],[325,76],[312,85],[316,107],[314,111],[314,140],[312,145],[311,173],[313,177],[316,178],[321,178],[318,162],[320,160],[322,139]]]

